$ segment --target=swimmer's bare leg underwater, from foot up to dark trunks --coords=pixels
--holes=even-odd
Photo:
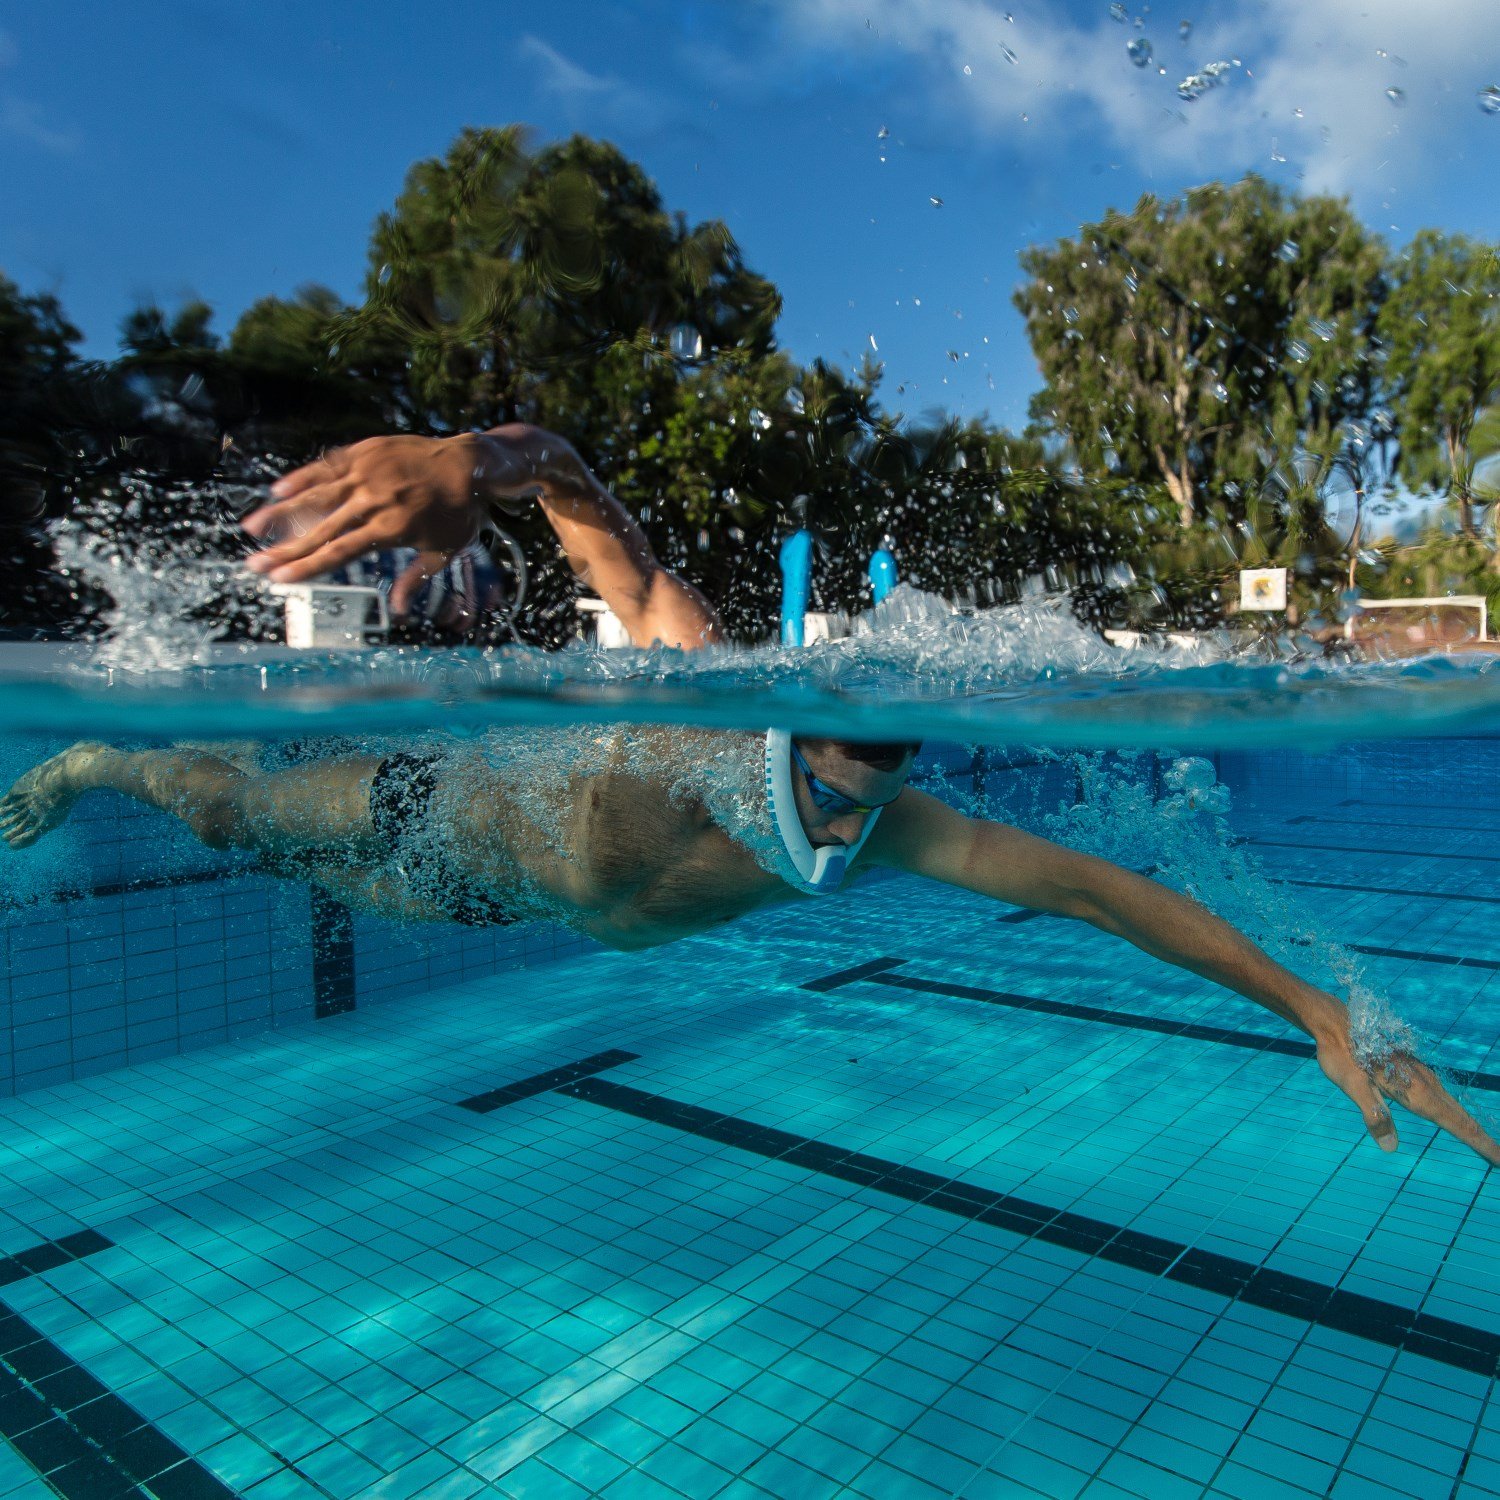
[[[381,759],[344,756],[254,772],[202,750],[116,750],[81,741],[27,771],[0,798],[0,836],[24,849],[66,820],[84,792],[108,789],[180,819],[212,849],[321,849],[342,860],[380,860],[369,792]]]

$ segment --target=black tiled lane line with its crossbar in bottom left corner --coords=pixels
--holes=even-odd
[[[0,1286],[112,1250],[92,1228],[0,1257]],[[66,1500],[234,1500],[234,1491],[0,1305],[0,1437]]]

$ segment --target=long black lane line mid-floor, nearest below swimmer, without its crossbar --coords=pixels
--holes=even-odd
[[[610,1083],[608,1078],[584,1078],[564,1084],[558,1092],[700,1140],[735,1146],[770,1161],[786,1161],[873,1192],[990,1224],[1023,1239],[1046,1240],[1090,1258],[1166,1276],[1270,1312],[1284,1312],[1388,1348],[1407,1350],[1491,1378],[1500,1370],[1500,1334],[1488,1329],[1454,1323],[1380,1298],[1342,1292],[1308,1276],[1270,1270],[1232,1256],[1192,1250],[1178,1240],[1143,1234],[1107,1220],[981,1188],[962,1178],[942,1178],[843,1146],[830,1146],[810,1136],[756,1125],[734,1114]]]

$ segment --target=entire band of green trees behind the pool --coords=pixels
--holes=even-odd
[[[573,440],[752,638],[772,628],[792,526],[819,538],[824,608],[860,608],[864,561],[891,544],[922,586],[990,602],[1042,579],[1104,624],[1222,618],[1234,568],[1270,561],[1310,608],[1356,572],[1398,586],[1364,530],[1398,472],[1473,530],[1474,468],[1500,450],[1488,246],[1424,232],[1392,258],[1346,202],[1251,176],[1110,210],[1022,270],[1044,376],[1024,434],[906,422],[873,357],[800,364],[777,344],[780,294],[728,228],[690,225],[586,136],[466,129],[376,218],[354,302],[303,286],[228,332],[198,300],[142,306],[108,364],[76,357],[56,298],[0,278],[16,584],[0,626],[82,608],[39,567],[45,516],[198,518],[195,538],[232,556],[232,506],[270,472],[374,432],[507,420]],[[1347,538],[1336,495],[1354,501]],[[519,530],[537,562],[522,628],[560,640],[572,576],[542,522]],[[1428,554],[1468,568],[1473,549]]]

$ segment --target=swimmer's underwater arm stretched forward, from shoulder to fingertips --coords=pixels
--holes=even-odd
[[[1500,1166],[1500,1144],[1430,1068],[1408,1056],[1389,1058],[1371,1070],[1362,1066],[1344,1005],[1284,969],[1197,902],[1155,880],[1005,824],[964,818],[946,802],[912,789],[880,814],[870,852],[879,862],[914,874],[1086,921],[1156,958],[1222,984],[1312,1038],[1318,1066],[1354,1101],[1382,1149],[1394,1150],[1396,1144],[1384,1102],[1394,1098]]]

